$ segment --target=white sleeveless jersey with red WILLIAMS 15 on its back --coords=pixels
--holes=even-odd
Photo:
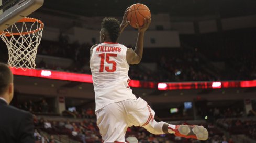
[[[92,52],[90,68],[95,92],[95,111],[110,103],[137,99],[128,83],[129,64],[126,61],[127,47],[119,43],[104,42]]]

